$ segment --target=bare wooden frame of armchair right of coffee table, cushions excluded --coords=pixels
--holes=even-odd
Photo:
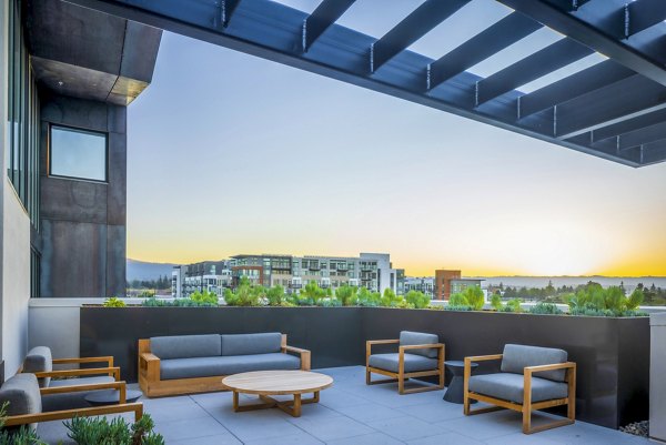
[[[369,340],[365,342],[365,384],[377,385],[382,383],[395,383],[397,382],[397,392],[402,394],[422,393],[424,391],[436,391],[444,388],[444,344],[420,344],[420,345],[404,345],[398,347],[398,372],[394,373],[391,371],[382,370],[379,367],[370,366],[370,356],[372,355],[373,345],[386,345],[386,344],[400,344],[400,340]],[[414,373],[405,373],[405,352],[410,350],[424,350],[424,348],[436,348],[437,350],[437,368],[433,371],[418,371]],[[372,381],[371,374],[382,374],[391,378],[384,378],[380,381]],[[432,377],[437,376],[438,383],[436,386],[424,386],[412,390],[405,390],[405,380],[417,378],[417,377]]]

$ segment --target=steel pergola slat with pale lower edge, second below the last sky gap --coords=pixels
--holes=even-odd
[[[636,74],[558,105],[555,135],[569,139],[666,109],[666,88]]]

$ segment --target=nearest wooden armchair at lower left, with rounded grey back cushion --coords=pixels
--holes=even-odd
[[[118,404],[73,407],[43,412],[41,397],[50,394],[65,394],[75,392],[89,392],[97,390],[117,390],[120,393]],[[100,416],[107,414],[134,413],[134,419],[143,416],[143,404],[141,402],[127,403],[125,382],[93,383],[87,385],[39,387],[33,374],[22,373],[9,378],[0,388],[0,404],[8,402],[8,416],[6,426],[20,426],[37,424],[39,422],[61,421],[73,417]]]

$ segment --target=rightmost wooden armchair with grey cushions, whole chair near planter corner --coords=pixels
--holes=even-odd
[[[576,418],[576,364],[566,358],[567,354],[562,350],[522,345],[506,345],[503,354],[465,357],[464,414],[503,408],[517,411],[523,413],[524,434],[573,424]],[[502,361],[502,372],[472,376],[473,362],[493,360]],[[473,400],[495,406],[472,409]],[[567,418],[532,427],[533,411],[561,405],[567,405]]]

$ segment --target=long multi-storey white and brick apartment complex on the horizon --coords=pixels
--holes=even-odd
[[[241,254],[219,262],[179,265],[172,272],[172,294],[189,296],[194,291],[208,290],[223,295],[225,287],[238,286],[241,279],[252,284],[283,286],[294,293],[314,281],[323,289],[349,284],[364,286],[373,292],[393,290],[404,293],[403,269],[394,269],[387,253],[361,253],[359,256],[293,256],[280,254]]]

